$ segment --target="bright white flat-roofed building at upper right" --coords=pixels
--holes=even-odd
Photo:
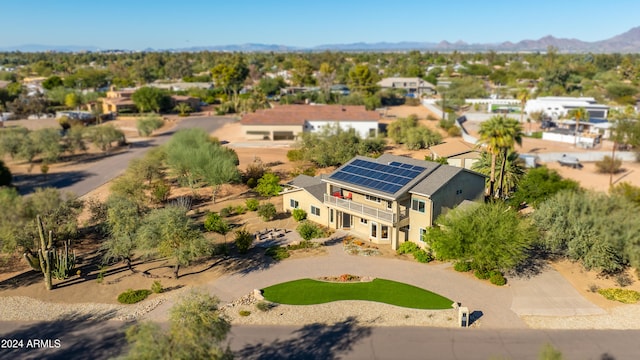
[[[584,108],[590,118],[606,119],[609,107],[598,104],[591,97],[568,97],[568,96],[542,96],[537,99],[527,101],[524,112],[527,115],[541,111],[547,117],[557,120],[567,117],[571,110]]]

